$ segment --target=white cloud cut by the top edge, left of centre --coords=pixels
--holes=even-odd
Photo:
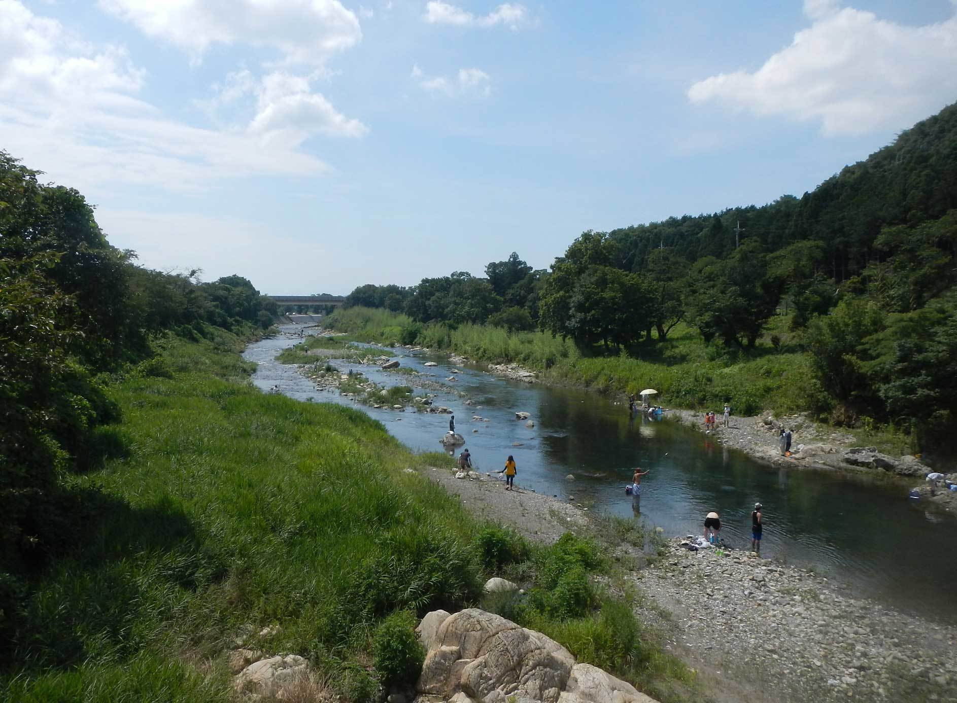
[[[196,60],[215,44],[270,47],[280,63],[321,65],[362,38],[339,0],[100,0],[100,7]]]

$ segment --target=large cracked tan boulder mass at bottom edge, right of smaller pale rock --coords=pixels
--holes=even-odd
[[[576,664],[541,632],[494,613],[436,611],[418,629],[428,648],[419,703],[654,703],[605,671]]]

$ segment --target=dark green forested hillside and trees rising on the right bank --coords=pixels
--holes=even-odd
[[[801,198],[587,231],[547,272],[513,253],[485,277],[367,285],[346,304],[405,312],[408,339],[428,323],[537,326],[594,357],[662,359],[681,324],[728,365],[777,351],[781,334],[760,341],[784,318],[824,391],[810,409],[892,423],[933,449],[957,413],[955,246],[950,105]]]

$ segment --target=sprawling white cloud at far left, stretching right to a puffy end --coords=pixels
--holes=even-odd
[[[298,90],[301,84],[279,80],[256,99],[257,139],[193,127],[138,98],[144,79],[122,48],[82,42],[19,0],[0,0],[3,146],[71,186],[201,190],[248,175],[313,175],[328,166],[294,150],[304,132],[364,129],[321,96]],[[256,82],[238,72],[224,99],[238,99],[249,85]]]

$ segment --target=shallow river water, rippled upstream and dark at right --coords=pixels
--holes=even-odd
[[[280,329],[282,334],[251,344],[243,354],[258,364],[253,379],[258,387],[278,385],[284,395],[300,401],[354,406],[381,421],[410,449],[441,450],[448,415],[372,409],[338,391],[316,390],[295,366],[274,361],[279,351],[299,341],[300,327]],[[590,510],[635,516],[624,486],[640,466],[651,470],[642,480],[641,519],[668,536],[699,535],[704,515],[717,511],[723,538],[738,549],[750,544],[750,512],[760,501],[763,557],[812,565],[832,580],[849,583],[856,595],[957,621],[957,608],[947,606],[957,582],[957,518],[908,500],[906,483],[771,468],[677,422],[630,418],[627,406],[596,393],[523,384],[477,365],[452,364],[445,356],[393,351],[403,367],[433,373],[429,378],[434,381],[455,376],[450,390],[438,392],[434,403],[454,410],[456,431],[479,472],[498,471],[512,454],[519,471],[516,483],[523,489]],[[426,367],[425,362],[438,365]],[[344,371],[362,371],[379,384],[415,387],[414,376],[333,363]],[[472,406],[464,405],[467,399]],[[530,413],[535,427],[517,422],[517,411]],[[474,415],[487,422],[473,421]],[[566,478],[569,473],[574,480]]]

